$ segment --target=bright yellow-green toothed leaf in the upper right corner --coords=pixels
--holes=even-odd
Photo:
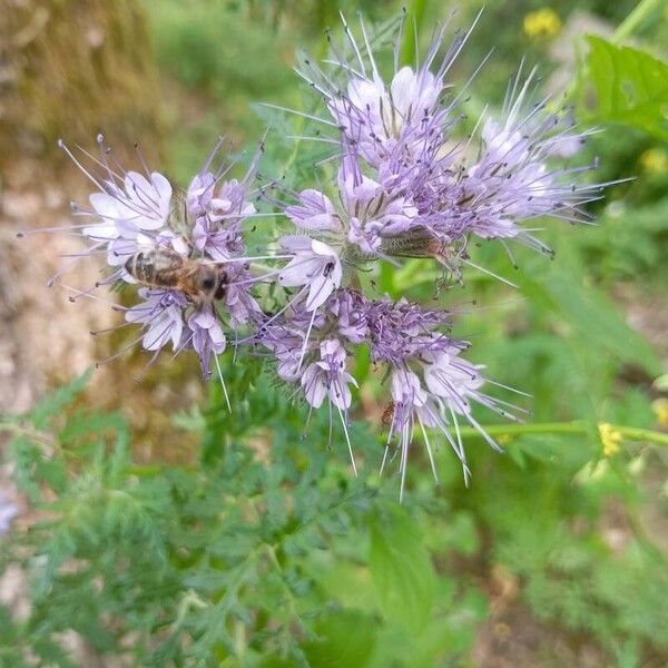
[[[668,65],[600,37],[587,39],[589,77],[597,95],[595,117],[668,139]]]

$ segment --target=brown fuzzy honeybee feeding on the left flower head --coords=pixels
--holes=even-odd
[[[223,267],[183,257],[169,248],[135,253],[125,268],[146,287],[183,292],[197,308],[222,299],[227,287],[227,274]]]

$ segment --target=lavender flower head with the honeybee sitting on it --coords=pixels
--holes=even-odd
[[[127,323],[141,327],[151,362],[167,345],[175,354],[193,348],[208,377],[212,356],[226,347],[222,322],[238,327],[262,316],[244,238],[244,225],[257,213],[248,200],[254,167],[242,181],[225,180],[225,168],[213,166],[220,141],[180,193],[157,171],[122,169],[101,135],[98,145],[99,157],[82,151],[89,168],[61,144],[97,187],[90,208],[72,205],[75,215],[94,218],[77,226],[90,243],[82,255],[104,253],[110,267],[96,288],[140,284],[141,301],[122,311]]]

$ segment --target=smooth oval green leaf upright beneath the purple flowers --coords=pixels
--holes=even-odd
[[[419,631],[429,620],[435,573],[422,534],[405,510],[392,508],[370,519],[369,563],[385,617]]]

